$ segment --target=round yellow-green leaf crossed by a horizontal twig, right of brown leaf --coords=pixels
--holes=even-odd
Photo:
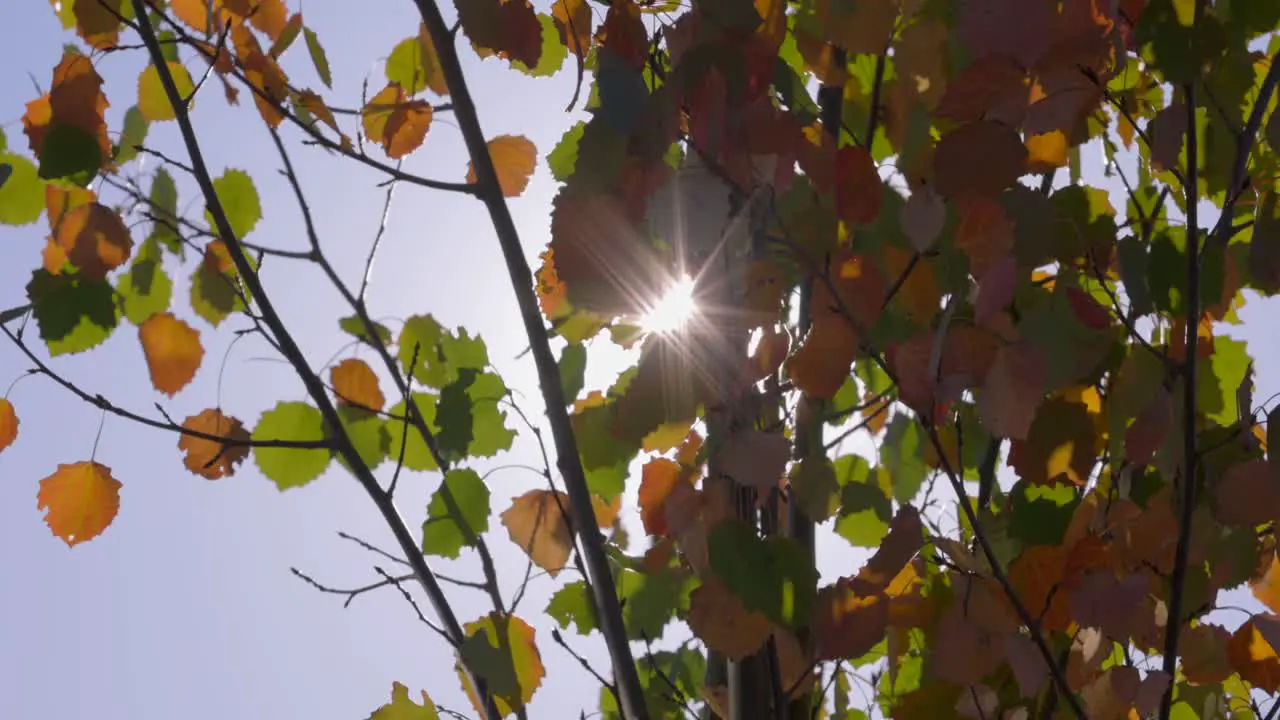
[[[324,416],[306,402],[280,402],[268,410],[253,428],[255,441],[325,439]],[[255,447],[253,461],[279,489],[302,487],[320,477],[332,454],[325,448]]]

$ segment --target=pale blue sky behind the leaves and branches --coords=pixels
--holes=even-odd
[[[443,5],[452,14],[452,4]],[[326,94],[334,104],[356,105],[366,77],[376,88],[381,58],[417,28],[408,1],[364,8],[353,12],[349,4],[323,0],[303,8],[334,68],[335,87]],[[12,147],[26,149],[17,119],[23,104],[36,96],[28,73],[47,87],[61,44],[70,40],[45,0],[5,0],[0,8],[0,123]],[[577,119],[563,113],[573,94],[573,72],[530,79],[497,60],[480,63],[470,53],[463,55],[488,136],[525,135],[544,155]],[[119,54],[99,67],[108,79],[109,119],[118,128],[134,101],[142,56]],[[285,56],[285,68],[296,82],[320,88],[301,42]],[[206,159],[214,172],[242,168],[257,179],[265,218],[248,240],[302,249],[297,206],[275,174],[278,158],[248,96],[242,97],[244,105],[228,109],[215,86],[200,99],[196,124]],[[287,137],[296,141],[297,135]],[[175,126],[168,123],[154,126],[147,142],[184,158],[175,138]],[[344,275],[356,278],[378,224],[383,191],[375,183],[381,178],[323,151],[296,142],[291,147],[324,246]],[[465,151],[448,115],[436,118],[426,146],[406,168],[443,179],[463,177]],[[177,179],[182,206],[198,209],[192,183]],[[547,240],[554,190],[540,164],[525,196],[512,201],[534,261]],[[0,231],[0,307],[24,301],[23,287],[40,263],[45,229],[41,219],[37,225]],[[175,400],[151,388],[131,327],[91,354],[58,359],[55,368],[90,392],[102,392],[140,413],[151,413],[156,400],[175,418],[215,405],[229,327],[243,327],[243,322],[230,320],[215,332],[193,318],[186,302],[187,273],[189,265],[175,274],[174,307],[201,331],[207,355],[196,380]],[[269,259],[262,278],[314,365],[346,342],[335,319],[347,310],[317,270]],[[532,364],[527,357],[515,360],[525,347],[524,331],[480,204],[399,188],[370,299],[379,316],[429,311],[447,324],[481,333],[508,384],[526,395],[526,410],[539,416]],[[1261,310],[1258,302],[1245,307],[1247,323],[1262,327]],[[608,384],[623,360],[608,343],[598,346],[588,368],[589,387]],[[1251,347],[1260,368],[1257,397],[1263,398],[1280,389],[1268,372],[1280,346],[1256,340]],[[305,395],[291,369],[260,360],[266,356],[270,351],[262,342],[244,341],[227,364],[221,405],[247,424],[276,401]],[[15,348],[0,346],[0,384],[27,368]],[[36,510],[37,482],[59,462],[88,459],[99,413],[44,378],[23,380],[10,397],[22,430],[17,445],[0,455],[0,717],[352,720],[385,702],[393,680],[415,692],[425,687],[436,702],[470,714],[452,653],[416,621],[398,593],[371,593],[343,610],[339,597],[317,593],[289,574],[291,565],[298,566],[321,582],[348,587],[376,579],[371,565],[379,559],[340,541],[335,532],[383,546],[390,544],[388,533],[364,492],[337,464],[311,486],[285,493],[265,480],[252,461],[234,478],[209,483],[182,466],[175,436],[108,418],[96,459],[124,483],[122,510],[105,534],[68,548],[49,533]],[[516,443],[512,454],[494,464],[538,462],[527,434]],[[512,496],[538,482],[516,470],[495,474],[493,507],[504,509]],[[402,479],[401,510],[412,528],[420,524],[436,483],[435,475]],[[497,532],[490,533],[490,544],[503,591],[511,597],[524,574],[524,557],[497,521],[492,525]],[[643,542],[639,533],[632,537]],[[856,568],[854,557],[844,541],[823,543],[828,570],[847,574]],[[435,560],[433,565],[453,575],[479,577],[468,553],[460,562]],[[549,580],[538,580],[521,606],[521,614],[539,629],[543,659],[552,669],[531,706],[534,717],[591,711],[599,692],[547,635],[550,625],[540,615],[553,591]],[[421,593],[413,592],[429,610]],[[460,598],[456,609],[463,621],[486,610],[483,596],[451,594]],[[567,633],[566,638],[599,661],[602,670],[607,667],[598,634]]]

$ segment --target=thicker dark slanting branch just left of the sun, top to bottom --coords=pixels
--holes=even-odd
[[[586,486],[586,473],[582,470],[573,427],[570,424],[568,413],[564,409],[564,388],[561,386],[559,369],[547,337],[547,327],[538,306],[538,297],[534,293],[534,274],[529,268],[525,249],[520,242],[520,233],[516,231],[507,201],[502,195],[498,174],[494,170],[493,159],[489,156],[489,146],[484,131],[480,128],[475,101],[471,99],[471,91],[462,73],[462,64],[458,61],[449,27],[434,0],[413,0],[413,4],[435,44],[440,68],[444,72],[444,82],[453,96],[454,114],[471,155],[471,167],[475,168],[479,181],[475,184],[475,191],[489,210],[489,219],[498,234],[512,290],[520,305],[521,320],[529,336],[534,363],[538,365],[538,379],[550,420],[557,464],[570,496],[575,529],[582,539],[582,550],[593,580],[595,606],[600,615],[600,632],[604,634],[609,656],[613,659],[618,705],[622,715],[628,720],[648,720],[649,711],[645,706],[640,676],[636,673],[631,646],[627,643],[626,628],[622,624],[622,607],[611,582],[612,573],[608,556],[604,553],[604,541],[595,524],[595,511],[591,507],[591,492]]]

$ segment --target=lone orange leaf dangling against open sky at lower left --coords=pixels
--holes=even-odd
[[[59,465],[40,480],[38,510],[47,510],[45,524],[68,546],[102,534],[120,510],[120,484],[111,469],[92,460]]]

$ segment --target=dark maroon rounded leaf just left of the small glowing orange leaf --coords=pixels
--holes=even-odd
[[[1027,147],[996,120],[978,120],[945,135],[933,152],[937,191],[945,197],[995,197],[1021,177]]]

